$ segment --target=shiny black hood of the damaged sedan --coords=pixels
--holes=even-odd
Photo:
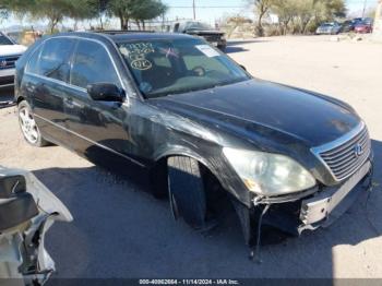
[[[309,147],[332,142],[360,123],[351,107],[339,100],[260,80],[151,102],[242,139],[261,134],[268,141],[293,139]]]

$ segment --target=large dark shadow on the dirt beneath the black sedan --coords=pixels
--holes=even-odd
[[[375,180],[381,183],[382,143],[372,145]],[[368,208],[365,193],[330,228],[263,247],[263,263],[254,264],[235,216],[203,236],[175,222],[166,201],[98,167],[34,174],[74,216],[71,224],[55,225],[47,237],[56,277],[333,277],[338,266],[334,247],[374,239],[382,229],[377,187]]]

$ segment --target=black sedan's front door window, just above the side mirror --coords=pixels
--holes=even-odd
[[[86,88],[92,83],[114,83],[120,86],[106,49],[100,44],[81,40],[73,59],[71,84]]]

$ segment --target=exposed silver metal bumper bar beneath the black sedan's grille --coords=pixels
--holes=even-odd
[[[320,226],[326,227],[345,213],[358,194],[366,190],[360,182],[370,174],[371,168],[372,165],[368,160],[339,188],[329,188],[313,198],[302,200],[298,233],[314,230]]]

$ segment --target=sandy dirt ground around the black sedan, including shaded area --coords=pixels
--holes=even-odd
[[[231,41],[227,52],[256,78],[353,105],[370,129],[382,182],[382,45],[274,37]],[[0,165],[32,170],[75,219],[48,235],[56,277],[382,277],[381,186],[331,228],[263,247],[254,264],[234,218],[210,236],[195,233],[134,182],[62,147],[28,146],[14,110],[0,109]]]

